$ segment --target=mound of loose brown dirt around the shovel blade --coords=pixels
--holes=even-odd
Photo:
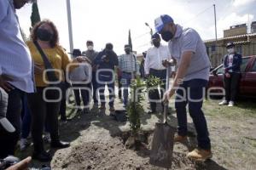
[[[94,137],[86,138],[83,135],[79,144],[59,150],[51,162],[53,169],[164,169],[149,164],[150,142],[142,144],[139,150],[129,150],[125,148],[122,138],[124,135],[112,137],[105,129],[101,129],[101,133],[90,133],[90,129],[87,130],[89,132],[86,134]],[[148,140],[150,139],[152,134],[148,136]],[[182,144],[175,147],[172,169],[197,169],[198,165],[185,157],[184,153],[188,152],[188,149]]]

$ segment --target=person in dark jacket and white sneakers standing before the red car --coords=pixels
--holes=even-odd
[[[236,53],[235,44],[233,42],[227,43],[226,48],[228,54],[224,56],[223,75],[225,97],[218,105],[229,105],[232,107],[234,106],[237,86],[240,80],[241,54]]]

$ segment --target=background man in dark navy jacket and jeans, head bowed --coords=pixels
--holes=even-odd
[[[113,44],[107,43],[106,48],[102,50],[94,60],[96,65],[96,81],[98,83],[98,90],[100,93],[101,99],[101,110],[106,109],[106,100],[105,100],[105,85],[108,86],[109,91],[109,111],[113,113],[114,111],[114,66],[119,65],[119,60],[117,54],[113,52]]]

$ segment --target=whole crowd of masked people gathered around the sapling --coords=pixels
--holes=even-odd
[[[86,114],[90,113],[92,102],[93,108],[106,109],[104,91],[107,86],[109,111],[114,114],[115,77],[119,99],[122,98],[124,107],[127,107],[132,79],[139,75],[142,78],[151,75],[166,82],[166,67],[170,64],[178,65],[177,70],[172,70],[172,87],[166,93],[163,90],[159,93],[158,89],[150,93],[149,99],[154,102],[150,101],[151,111],[148,113],[156,112],[155,99],[163,99],[163,107],[163,102],[176,93],[175,141],[181,142],[187,138],[186,105],[189,105],[189,114],[197,132],[198,149],[189,152],[188,156],[194,159],[212,157],[207,121],[201,110],[203,88],[207,87],[211,64],[204,42],[195,30],[183,29],[174,24],[171,16],[161,15],[154,21],[156,33],[152,35],[152,47],[143,54],[141,65],[129,44],[125,44],[125,54],[118,56],[113,51],[112,43],[107,43],[101,52],[96,52],[94,42],[90,40],[86,42],[86,51],[74,49],[69,58],[59,43],[58,30],[50,20],[38,22],[32,28],[30,40],[23,40],[15,9],[29,2],[0,1],[0,158],[15,155],[18,140],[20,150],[25,150],[30,134],[34,148],[32,158],[38,161],[51,160],[44,149],[44,133],[52,148],[69,147],[70,144],[59,137],[58,119],[60,116],[62,121],[67,121],[67,88],[73,88],[76,107],[79,112]],[[162,45],[161,39],[169,42],[169,46]],[[230,44],[228,48],[233,46]],[[233,57],[238,58],[238,64],[241,62],[240,55]],[[229,71],[236,72],[239,68],[232,67],[229,60],[228,57],[224,58],[224,82],[233,84],[231,82],[237,79],[236,73]],[[184,97],[188,95],[194,100]],[[227,93],[220,105],[228,101],[232,105],[235,96],[235,91]]]

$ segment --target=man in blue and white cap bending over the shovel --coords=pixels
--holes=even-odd
[[[201,110],[211,65],[205,44],[195,30],[183,29],[174,24],[172,17],[167,14],[154,20],[154,26],[162,39],[169,42],[172,58],[177,60],[177,75],[165,94],[166,101],[177,94],[177,136],[174,140],[182,142],[187,139],[186,105],[189,104],[189,115],[195,124],[198,148],[189,152],[188,157],[205,161],[212,157],[207,121]]]

